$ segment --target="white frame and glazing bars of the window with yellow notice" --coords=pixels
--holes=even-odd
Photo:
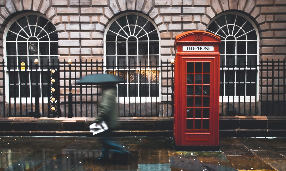
[[[47,19],[48,20],[48,22],[51,22],[52,23],[52,21],[50,20],[50,19],[48,19],[45,15],[43,15],[43,14],[40,14],[40,13],[33,13],[33,12],[28,12],[28,13],[24,13],[24,14],[20,14],[20,15],[17,15],[17,16],[15,16],[13,19],[11,19],[10,21],[9,21],[9,23],[7,24],[7,26],[5,27],[5,30],[4,30],[4,32],[3,32],[3,43],[4,43],[4,48],[3,48],[3,52],[4,52],[4,62],[5,62],[5,65],[7,65],[8,63],[7,63],[7,46],[6,46],[6,42],[10,42],[10,41],[7,41],[6,40],[6,38],[7,38],[7,33],[8,33],[8,30],[10,29],[10,27],[18,20],[18,19],[20,19],[20,18],[22,18],[22,17],[24,17],[24,16],[29,16],[29,15],[37,15],[38,16],[38,18],[37,18],[37,21],[38,21],[38,19],[39,19],[39,16],[40,17],[43,17],[43,18],[45,18],[45,19]],[[47,22],[47,23],[48,23]],[[53,24],[53,23],[52,23]],[[25,27],[28,27],[28,26],[30,26],[29,25],[29,22],[28,22],[28,25],[27,26],[25,26]],[[34,26],[34,25],[31,25],[31,26]],[[47,26],[47,24],[45,25],[45,26]],[[53,25],[54,26],[54,25]],[[20,26],[21,27],[21,26]],[[24,27],[24,28],[25,28]],[[36,28],[37,27],[39,27],[39,26],[36,26]],[[55,27],[55,26],[54,26]],[[23,27],[21,27],[22,29],[21,30],[23,30]],[[43,28],[42,28],[43,29]],[[21,30],[19,31],[19,32],[21,32]],[[31,29],[29,28],[29,30],[30,30],[30,34],[31,34]],[[36,29],[35,29],[35,31],[36,31]],[[45,31],[44,29],[42,30],[42,31]],[[55,31],[53,31],[53,32],[56,32],[57,30],[55,30]],[[19,33],[18,32],[18,33]],[[53,32],[51,32],[51,33],[53,33]],[[18,34],[18,33],[16,33],[16,34]],[[40,32],[41,33],[41,32]],[[39,34],[40,34],[39,33]],[[47,34],[51,34],[51,33],[47,33]],[[39,35],[38,34],[38,35]],[[29,36],[29,35],[27,35],[27,36]],[[17,35],[17,37],[18,37],[18,35]],[[34,36],[30,36],[30,37],[35,37],[35,38],[37,38],[36,36],[35,36],[35,33],[34,33]],[[58,42],[58,41],[39,41],[39,38],[37,38],[38,39],[38,41],[37,41],[37,43],[38,43],[38,48],[40,47],[39,46],[39,42]],[[49,38],[50,39],[50,38]],[[17,51],[16,51],[16,55],[11,55],[11,56],[16,56],[16,65],[17,65],[17,63],[18,63],[18,56],[37,56],[38,58],[38,60],[39,60],[39,65],[41,65],[40,64],[40,62],[41,62],[41,60],[40,60],[40,56],[49,56],[49,63],[51,64],[52,63],[52,61],[51,61],[51,56],[59,56],[59,55],[51,55],[50,54],[50,52],[51,52],[51,46],[49,46],[49,55],[29,55],[29,38],[27,39],[27,55],[18,55],[17,54]],[[16,50],[17,50],[17,47],[18,47],[18,45],[17,45],[17,38],[16,38],[16,41],[12,41],[12,42],[16,42]],[[35,41],[32,41],[32,42],[35,42]],[[27,65],[29,65],[29,58],[27,58]],[[32,61],[33,62],[33,61]],[[19,86],[19,97],[16,97],[16,98],[14,98],[14,97],[11,97],[11,99],[9,98],[9,72],[10,71],[18,71],[18,83],[17,84],[10,84],[10,85],[18,85]],[[15,103],[15,99],[16,99],[16,103],[20,103],[20,93],[21,93],[21,91],[20,91],[20,74],[19,74],[19,71],[21,71],[21,68],[17,68],[17,69],[7,69],[7,67],[5,67],[5,101],[6,102],[10,102],[10,103]],[[35,83],[31,83],[31,74],[30,74],[30,71],[48,71],[47,69],[40,69],[40,68],[38,68],[37,70],[30,70],[30,69],[27,69],[27,70],[25,70],[25,71],[28,71],[29,72],[29,83],[27,83],[27,84],[22,84],[22,85],[27,85],[27,86],[29,86],[30,87],[30,94],[29,94],[29,97],[27,97],[27,102],[26,102],[26,97],[21,97],[21,103],[31,103],[31,102],[33,102],[33,103],[35,103],[35,97],[32,97],[32,93],[31,93],[31,89],[32,89],[32,85],[36,85]],[[38,85],[40,85],[40,89],[42,90],[42,85],[48,85],[48,84],[42,84],[41,83],[41,74],[40,74],[40,80],[38,80]],[[42,97],[42,91],[40,91],[40,94],[39,94],[39,103],[48,103],[49,101],[48,101],[48,97]]]

